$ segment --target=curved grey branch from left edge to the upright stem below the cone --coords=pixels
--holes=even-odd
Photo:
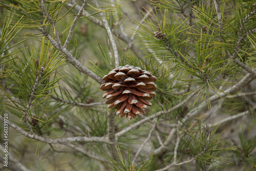
[[[4,122],[7,119],[4,119],[3,116],[0,116],[0,120]],[[103,142],[107,144],[112,144],[108,139],[105,137],[68,137],[68,138],[58,138],[58,139],[50,139],[50,138],[44,138],[38,135],[32,135],[28,132],[24,131],[21,127],[16,125],[15,123],[12,123],[11,121],[7,120],[8,125],[11,126],[14,130],[18,131],[20,134],[23,134],[24,136],[40,141],[45,143],[51,143],[51,144],[62,144],[62,143],[68,143],[68,142]]]

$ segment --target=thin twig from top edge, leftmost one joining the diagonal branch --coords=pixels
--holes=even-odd
[[[46,16],[46,18],[49,20],[50,24],[52,25],[52,30],[56,39],[56,44],[59,48],[61,48],[61,42],[59,39],[59,33],[56,29],[56,25],[54,20],[51,18],[51,16],[48,14],[47,10],[46,10],[46,4],[45,4],[45,0],[41,0],[41,9],[42,9],[42,13],[44,13],[44,15]]]

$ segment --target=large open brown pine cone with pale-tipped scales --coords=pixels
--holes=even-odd
[[[157,88],[154,83],[157,78],[150,72],[139,67],[126,65],[110,71],[103,77],[105,81],[100,89],[106,91],[103,98],[106,98],[108,108],[116,108],[116,115],[122,118],[136,118],[136,115],[145,114],[142,108],[152,105],[152,97],[156,96]]]

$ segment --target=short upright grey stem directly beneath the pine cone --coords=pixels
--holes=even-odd
[[[108,112],[108,137],[110,144],[111,155],[114,160],[118,161],[118,154],[116,151],[117,138],[115,135],[115,114],[114,112]]]

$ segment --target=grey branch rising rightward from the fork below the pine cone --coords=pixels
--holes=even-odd
[[[116,133],[116,137],[120,137],[122,136],[123,134],[135,129],[137,126],[147,122],[147,121],[150,121],[156,117],[159,117],[159,116],[162,116],[163,114],[168,114],[174,110],[177,110],[179,109],[181,106],[183,106],[184,104],[186,104],[192,97],[194,97],[200,90],[196,90],[194,91],[193,93],[191,93],[189,96],[187,96],[186,99],[184,99],[181,103],[175,105],[173,108],[167,110],[167,111],[161,111],[161,112],[158,112],[156,113],[155,115],[152,115],[152,116],[149,116],[149,117],[146,117],[145,119],[142,119],[136,123],[134,123],[133,125],[129,126],[129,127],[126,127],[125,129],[123,129],[122,131]]]

